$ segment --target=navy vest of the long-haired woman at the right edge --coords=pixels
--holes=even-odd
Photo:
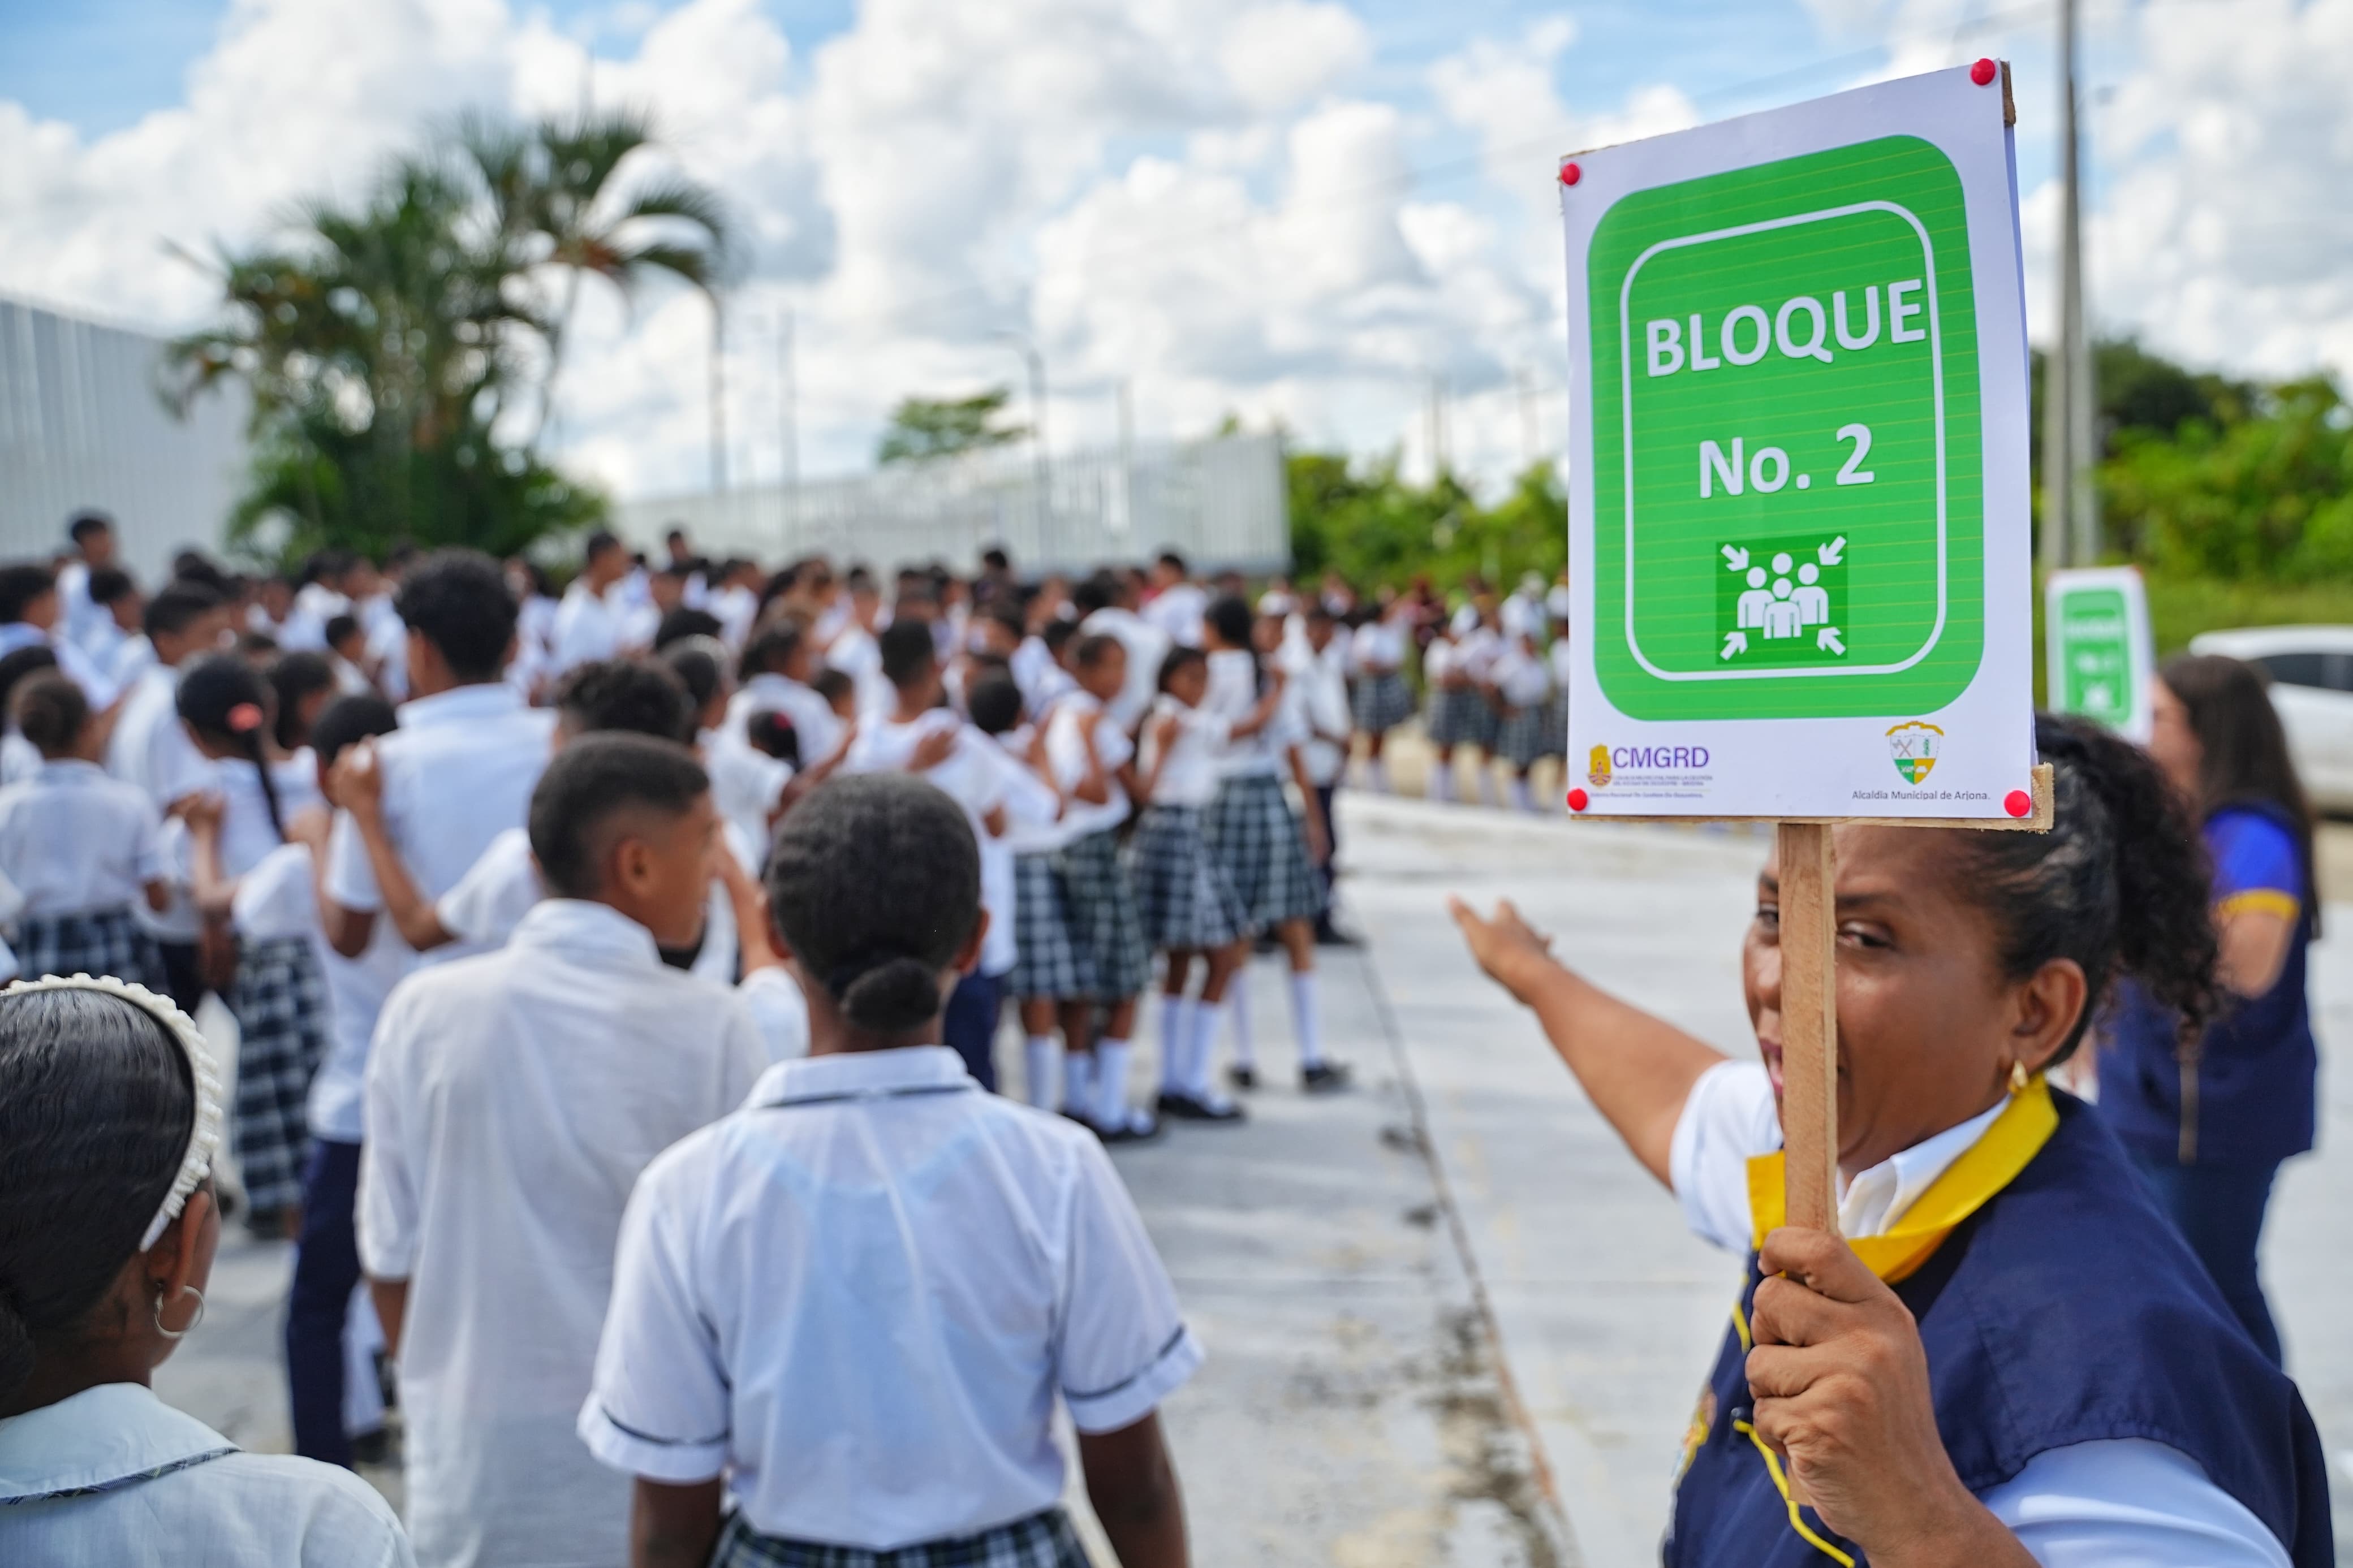
[[[2235,802],[2294,835],[2287,813],[2266,802]],[[2212,827],[2212,818],[2209,818]],[[2158,1006],[2137,980],[2115,992],[2099,1053],[2099,1114],[2144,1159],[2200,1166],[2275,1166],[2313,1147],[2320,1053],[2304,992],[2304,957],[2313,940],[2313,891],[2287,943],[2287,966],[2261,997],[2224,1001],[2198,1051],[2198,1095],[2184,1105],[2179,1013]]]

